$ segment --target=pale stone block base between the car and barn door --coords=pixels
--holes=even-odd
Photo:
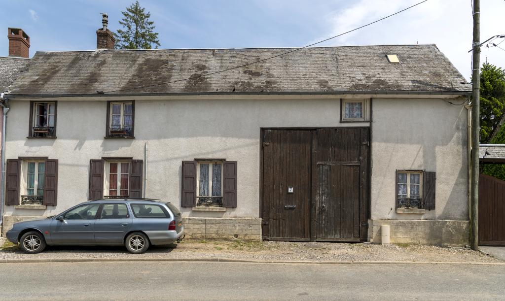
[[[185,238],[261,240],[261,218],[182,219]]]

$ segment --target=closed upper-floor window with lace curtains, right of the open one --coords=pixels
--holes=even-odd
[[[133,137],[134,103],[109,102],[107,137]]]

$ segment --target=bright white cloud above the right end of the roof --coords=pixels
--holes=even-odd
[[[360,27],[382,17],[405,9],[420,0],[359,0],[326,15],[329,29],[322,40],[329,36]],[[465,5],[463,5],[465,4]],[[481,6],[481,41],[500,34],[497,20],[502,20],[501,2],[486,2]],[[500,21],[501,22],[501,21]],[[323,45],[384,45],[384,44],[436,44],[467,78],[471,74],[472,11],[470,3],[461,0],[432,0],[408,11],[345,34]],[[505,43],[504,43],[505,44]],[[483,49],[481,62],[489,58],[491,64],[505,67],[500,49]]]

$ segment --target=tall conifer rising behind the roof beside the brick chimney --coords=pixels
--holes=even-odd
[[[151,49],[153,45],[156,49],[160,46],[158,33],[154,32],[154,22],[149,21],[151,15],[149,12],[145,13],[138,1],[121,13],[124,18],[119,24],[123,29],[114,33],[116,49]]]

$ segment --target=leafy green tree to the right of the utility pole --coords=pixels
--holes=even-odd
[[[487,143],[503,123],[505,71],[485,63],[480,70],[480,141]]]

